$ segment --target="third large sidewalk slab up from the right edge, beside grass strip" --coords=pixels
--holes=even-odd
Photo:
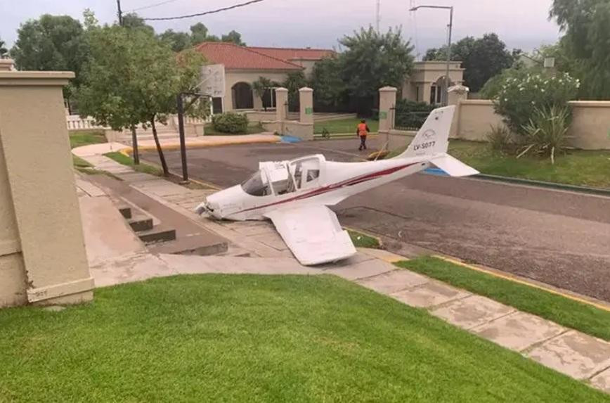
[[[460,328],[470,329],[514,312],[513,307],[502,305],[480,295],[448,302],[431,313]]]

